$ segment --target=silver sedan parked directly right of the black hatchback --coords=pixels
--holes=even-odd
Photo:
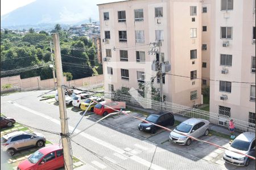
[[[181,122],[181,124],[179,124],[174,131],[170,133],[170,141],[179,145],[188,146],[191,144],[192,139],[179,133],[195,138],[199,138],[203,135],[207,136],[209,134],[209,124],[209,121],[201,118],[189,118],[188,120]]]

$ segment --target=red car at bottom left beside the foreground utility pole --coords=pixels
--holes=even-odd
[[[17,170],[58,169],[64,167],[63,149],[59,145],[40,148],[27,160],[19,163]]]

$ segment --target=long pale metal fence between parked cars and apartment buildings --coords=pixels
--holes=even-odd
[[[133,105],[136,107],[151,108],[156,111],[164,110],[174,114],[179,114],[181,116],[202,118],[204,120],[208,120],[212,124],[225,127],[229,127],[229,121],[233,119],[234,122],[236,122],[237,131],[252,131],[255,133],[255,124],[237,120],[236,118],[223,116],[218,113],[207,112],[168,101],[161,103],[160,101],[145,99],[144,97],[133,97],[123,94],[105,94],[105,97],[116,101],[124,101],[127,105]]]

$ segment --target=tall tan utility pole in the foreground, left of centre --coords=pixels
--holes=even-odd
[[[73,169],[73,159],[71,155],[71,142],[69,139],[65,92],[63,89],[64,80],[63,80],[63,71],[62,71],[61,55],[60,55],[59,34],[53,33],[52,37],[53,37],[53,43],[55,47],[55,65],[56,65],[56,75],[57,75],[57,91],[59,96],[60,126],[61,126],[61,138],[62,138],[63,155],[64,155],[64,167],[66,170],[67,169],[71,170]]]

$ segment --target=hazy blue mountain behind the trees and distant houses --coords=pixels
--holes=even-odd
[[[1,16],[1,28],[20,25],[75,24],[98,20],[101,0],[36,0]]]

